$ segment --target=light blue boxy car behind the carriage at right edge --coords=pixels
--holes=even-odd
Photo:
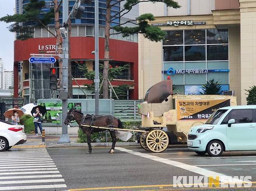
[[[219,108],[204,125],[191,127],[188,148],[198,155],[256,150],[256,105]]]

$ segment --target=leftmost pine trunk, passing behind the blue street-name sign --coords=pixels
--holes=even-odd
[[[62,41],[60,35],[60,17],[59,17],[59,9],[58,9],[58,0],[54,0],[54,20],[55,20],[55,31],[56,31],[56,44],[58,45],[57,52],[58,54],[62,54]],[[56,47],[57,48],[57,47]],[[59,86],[60,89],[63,89],[62,84],[62,60],[59,59]]]

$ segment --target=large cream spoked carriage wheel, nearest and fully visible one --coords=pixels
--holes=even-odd
[[[147,134],[146,145],[149,150],[154,153],[163,152],[167,149],[169,138],[165,131],[161,129],[154,129]]]

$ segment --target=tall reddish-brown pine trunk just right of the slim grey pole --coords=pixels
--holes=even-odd
[[[111,11],[111,0],[107,0],[106,10],[106,27],[105,27],[105,51],[104,51],[104,64],[103,64],[103,99],[109,98],[109,33],[110,33],[110,11]]]

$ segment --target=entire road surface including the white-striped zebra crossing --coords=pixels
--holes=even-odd
[[[256,190],[256,151],[226,152],[214,158],[196,155],[186,146],[170,146],[163,153],[139,146],[117,147],[114,154],[108,153],[109,148],[93,148],[91,154],[87,151],[88,148],[16,148],[0,152],[0,190]],[[183,183],[178,188],[174,188],[174,176],[183,176],[177,177],[181,179],[176,183]],[[235,179],[229,180],[231,184],[251,176],[252,187],[195,188],[196,182],[189,182],[189,176],[206,180],[219,176],[221,182],[232,176]]]

